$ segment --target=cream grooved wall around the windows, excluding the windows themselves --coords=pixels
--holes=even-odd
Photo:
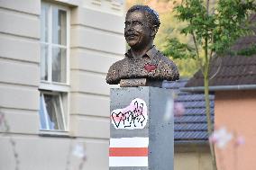
[[[41,137],[39,122],[40,0],[0,0],[0,107],[10,125],[21,170],[63,170],[71,146],[86,143],[84,169],[108,169],[108,67],[123,58],[123,6],[112,1],[48,0],[68,6],[70,138]],[[114,2],[114,1],[113,1]],[[97,10],[96,10],[97,9]],[[0,169],[14,169],[10,137],[0,128]],[[71,157],[73,169],[79,159]]]

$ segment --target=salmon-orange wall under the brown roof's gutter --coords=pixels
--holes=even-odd
[[[216,148],[218,166],[224,170],[256,168],[256,91],[215,93],[215,126],[225,127],[233,136],[242,136],[239,148],[231,141],[226,148]]]

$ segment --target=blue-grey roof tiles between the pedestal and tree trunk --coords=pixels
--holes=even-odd
[[[180,92],[179,88],[184,87],[187,80],[178,80],[176,82],[165,81],[163,86],[174,90],[177,94],[175,102],[183,103],[186,112],[181,117],[174,118],[174,139],[176,142],[206,141],[207,123],[206,107],[204,94],[190,94]],[[214,95],[210,95],[211,118],[214,121]]]

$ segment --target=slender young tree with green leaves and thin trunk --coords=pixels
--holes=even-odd
[[[178,20],[187,22],[180,33],[191,37],[193,43],[169,39],[164,53],[172,58],[194,58],[204,76],[207,130],[213,125],[209,101],[209,67],[215,56],[224,56],[235,40],[252,33],[248,18],[255,13],[255,0],[183,0],[175,8]],[[214,144],[210,143],[213,169],[217,169]]]

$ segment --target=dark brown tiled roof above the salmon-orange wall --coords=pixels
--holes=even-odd
[[[255,61],[256,55],[252,57],[215,58],[210,67],[209,85],[256,85]],[[197,71],[185,86],[204,86],[202,73]]]

